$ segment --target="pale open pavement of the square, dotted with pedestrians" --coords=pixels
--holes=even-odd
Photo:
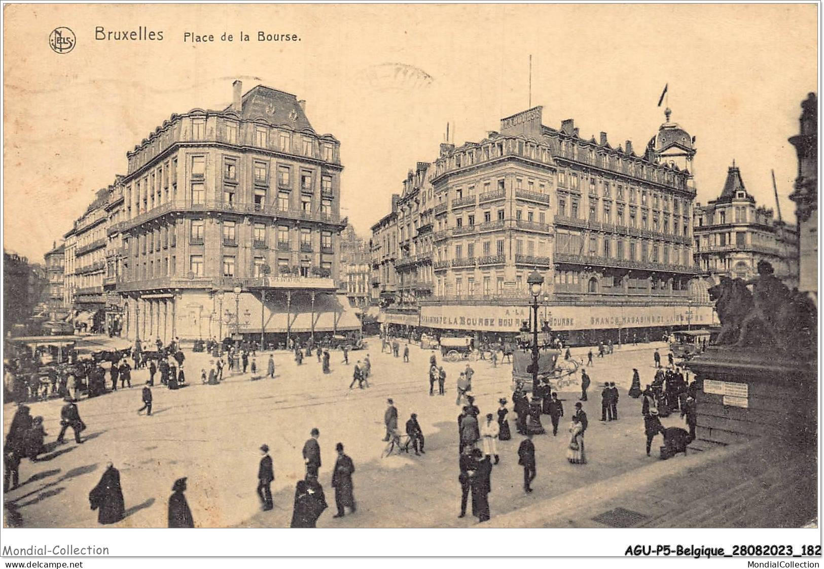
[[[644,454],[643,421],[639,400],[626,396],[632,368],[639,369],[642,383],[652,379],[652,352],[647,344],[623,346],[604,359],[596,358],[589,401],[584,404],[590,419],[587,433],[589,463],[569,464],[565,458],[568,420],[557,437],[536,436],[538,477],[535,491],[522,491],[517,467],[520,437],[499,442],[501,463],[492,474],[490,506],[493,518],[534,505],[574,489],[588,487],[608,477],[631,473],[656,462]],[[177,477],[189,477],[187,491],[194,520],[200,527],[286,527],[291,518],[294,484],[303,475],[301,448],[312,427],[321,430],[320,480],[330,509],[319,527],[463,527],[475,523],[467,516],[458,520],[460,487],[457,482],[456,376],[464,364],[444,363],[447,395],[428,396],[427,367],[431,354],[411,346],[410,362],[382,354],[380,341],[370,340],[365,351],[332,354],[332,374],[322,374],[313,357],[297,366],[286,352],[274,355],[275,379],[251,381],[250,374],[229,375],[217,386],[199,384],[199,370],[209,356],[186,352],[185,371],[190,387],[171,392],[153,388],[152,416],[138,416],[140,388],[145,369],[133,373],[133,387],[78,404],[88,429],[87,441],[55,446],[61,402],[32,404],[32,414],[44,416],[49,436],[48,452],[40,461],[21,463],[19,489],[4,496],[7,524],[23,527],[96,527],[96,512],[89,510],[88,492],[112,460],[119,468],[127,513],[124,527],[164,527],[166,500]],[[587,349],[573,350],[584,357]],[[354,362],[371,354],[371,388],[349,390]],[[664,350],[662,350],[662,354]],[[265,369],[268,355],[257,358]],[[440,357],[438,356],[438,360]],[[493,368],[489,362],[472,362],[476,403],[483,414],[494,412],[499,397],[511,398],[511,369]],[[157,380],[157,378],[156,378]],[[615,381],[620,387],[619,421],[602,423],[599,382]],[[194,382],[194,383],[193,383]],[[578,387],[560,392],[569,414],[577,401]],[[403,426],[417,412],[426,435],[426,454],[380,458],[385,444],[382,417],[386,398],[393,397]],[[511,404],[510,404],[511,408]],[[14,407],[4,407],[4,431]],[[550,424],[545,417],[545,426]],[[682,425],[677,416],[665,426]],[[67,440],[71,440],[67,437]],[[335,443],[346,445],[356,465],[354,474],[358,512],[333,520],[334,490],[330,487],[335,463]],[[274,510],[260,512],[255,494],[258,447],[267,443],[274,459]],[[677,461],[678,459],[676,459]]]

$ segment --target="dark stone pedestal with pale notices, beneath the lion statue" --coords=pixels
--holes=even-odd
[[[698,381],[698,441],[745,442],[761,436],[816,444],[816,362],[780,352],[711,346],[686,367]]]

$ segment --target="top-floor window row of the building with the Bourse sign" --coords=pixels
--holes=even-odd
[[[570,140],[558,142],[550,139],[547,145],[517,139],[498,140],[483,144],[480,148],[467,148],[466,150],[456,151],[447,157],[438,158],[435,162],[435,168],[437,175],[440,176],[453,169],[472,166],[475,163],[501,158],[508,154],[517,154],[545,163],[553,162],[553,155],[559,155],[604,170],[620,172],[627,176],[681,189],[686,188],[685,174],[672,172],[672,170],[661,165],[641,162],[639,158],[611,154],[606,149],[596,151],[593,148],[587,148],[584,151],[580,144]]]

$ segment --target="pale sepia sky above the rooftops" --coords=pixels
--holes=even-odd
[[[341,143],[341,214],[362,236],[388,213],[415,162],[541,105],[585,137],[644,148],[664,120],[696,137],[697,200],[719,195],[735,160],[747,190],[794,221],[800,102],[817,92],[817,6],[12,5],[4,12],[3,246],[42,261],[125,153],[172,113],[222,109],[232,81],[307,101]],[[68,54],[49,32],[77,36]],[[96,40],[163,31],[162,41]],[[191,43],[184,34],[214,36]],[[238,40],[240,32],[250,41]],[[257,41],[257,32],[298,41]],[[226,32],[232,42],[221,41]]]

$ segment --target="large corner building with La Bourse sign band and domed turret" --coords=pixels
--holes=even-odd
[[[642,155],[606,133],[583,139],[573,120],[547,127],[540,106],[480,142],[442,144],[431,167],[433,295],[416,302],[419,328],[517,332],[532,270],[545,280],[539,317],[573,344],[708,325],[693,282],[695,148],[669,115]],[[376,228],[390,226],[387,216]]]

